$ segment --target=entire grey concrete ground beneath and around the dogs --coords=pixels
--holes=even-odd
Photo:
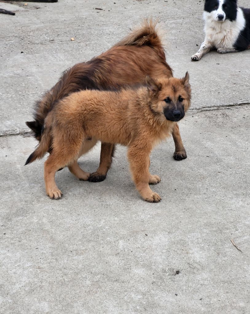
[[[0,14],[0,313],[250,313],[250,51],[191,62],[203,41],[198,0],[0,8],[16,12]],[[173,160],[172,139],[153,151],[158,204],[140,199],[124,147],[101,183],[58,172],[64,196],[50,200],[44,161],[23,166],[36,145],[25,126],[35,100],[148,16],[166,32],[175,75],[190,73],[188,158]],[[95,171],[99,154],[100,145],[81,167]]]

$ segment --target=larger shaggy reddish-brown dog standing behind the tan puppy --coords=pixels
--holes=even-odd
[[[78,63],[60,78],[59,82],[37,102],[35,121],[26,122],[38,141],[41,139],[44,120],[58,100],[72,92],[83,89],[118,88],[127,84],[144,84],[145,77],[172,77],[172,70],[165,61],[162,40],[155,24],[145,22],[138,30],[113,46],[100,56]],[[186,158],[177,124],[173,127],[175,141],[175,160]],[[95,143],[89,141],[85,149],[91,149]],[[112,162],[114,145],[102,142],[99,168],[91,175],[82,171],[75,160],[69,169],[80,180],[103,181]]]

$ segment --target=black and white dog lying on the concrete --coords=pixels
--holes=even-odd
[[[205,0],[203,19],[206,36],[193,61],[214,49],[219,53],[250,49],[250,9],[239,8],[237,0]]]

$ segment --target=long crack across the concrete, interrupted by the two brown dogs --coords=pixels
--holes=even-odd
[[[249,106],[250,103],[249,102],[242,102],[240,104],[231,104],[231,105],[223,105],[223,106],[212,106],[212,107],[204,107],[204,108],[190,108],[189,111],[192,111],[192,114],[196,114],[199,112],[203,112],[203,111],[212,111],[212,110],[225,110],[225,109],[231,109],[231,108],[237,108],[237,107],[242,107],[242,106]],[[7,136],[17,136],[17,135],[22,135],[25,137],[32,137],[33,133],[31,131],[27,131],[27,129],[23,129],[23,130],[9,130],[3,133],[0,133],[0,138],[1,137],[7,137]]]

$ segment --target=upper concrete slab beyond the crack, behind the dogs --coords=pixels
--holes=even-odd
[[[242,5],[247,3],[241,0]],[[27,130],[25,121],[31,119],[34,101],[57,82],[64,69],[107,50],[145,17],[159,19],[166,34],[167,61],[175,75],[190,72],[193,108],[249,102],[249,51],[237,55],[212,52],[200,62],[191,62],[196,45],[204,39],[203,2],[60,0],[17,4],[23,11],[0,17],[4,109],[0,135]],[[10,6],[1,3],[4,5]],[[103,10],[95,10],[99,7]]]

